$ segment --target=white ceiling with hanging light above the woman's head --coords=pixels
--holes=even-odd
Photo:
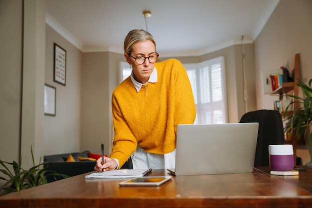
[[[202,55],[253,42],[279,0],[46,0],[46,23],[83,52],[123,53],[147,29],[162,56]],[[150,10],[151,17],[143,11]],[[147,23],[147,28],[146,28]]]

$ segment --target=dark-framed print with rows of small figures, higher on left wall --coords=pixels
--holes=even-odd
[[[66,51],[54,43],[54,82],[66,85]]]

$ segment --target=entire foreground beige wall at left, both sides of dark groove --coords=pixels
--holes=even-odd
[[[30,147],[43,156],[45,1],[1,0],[0,16],[0,159],[29,168]]]

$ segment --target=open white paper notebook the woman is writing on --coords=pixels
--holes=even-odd
[[[136,178],[143,177],[150,173],[152,169],[121,169],[106,172],[91,173],[86,176],[86,179],[98,179],[98,178]]]

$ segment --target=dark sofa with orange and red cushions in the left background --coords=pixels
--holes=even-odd
[[[66,154],[48,155],[43,157],[43,162],[45,167],[47,166],[47,171],[55,171],[59,174],[65,174],[67,176],[76,176],[84,173],[94,171],[94,166],[96,161],[92,160],[80,160],[79,157],[88,158],[90,151],[74,152]],[[75,159],[75,162],[65,162],[71,154]],[[129,160],[121,167],[121,169],[133,169],[132,160]],[[56,180],[63,179],[63,177],[56,177]],[[54,177],[47,177],[48,183],[55,181]]]

